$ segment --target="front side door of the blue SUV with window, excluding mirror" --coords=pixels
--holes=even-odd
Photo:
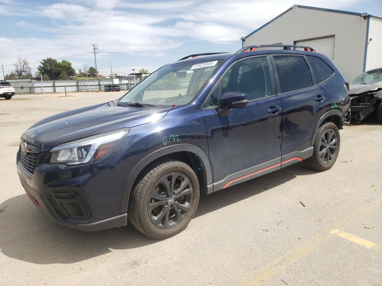
[[[272,92],[269,63],[267,56],[239,61],[207,99],[204,117],[214,191],[269,167],[280,168],[282,106]],[[225,92],[246,93],[248,105],[219,117],[220,95]]]

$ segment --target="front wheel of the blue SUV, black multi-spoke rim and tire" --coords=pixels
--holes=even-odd
[[[199,192],[199,181],[189,165],[172,159],[155,163],[133,187],[129,220],[151,238],[169,238],[183,231],[193,218]]]

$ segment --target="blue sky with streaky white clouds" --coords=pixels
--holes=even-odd
[[[78,71],[94,66],[120,75],[149,72],[192,53],[236,51],[248,35],[293,4],[367,12],[382,17],[381,0],[0,0],[0,64],[17,56],[37,71],[39,61],[67,59]],[[0,73],[2,78],[2,73]]]

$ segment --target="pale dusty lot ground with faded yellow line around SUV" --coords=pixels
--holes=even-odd
[[[51,222],[19,182],[21,134],[123,93],[0,99],[0,285],[382,285],[382,126],[372,121],[340,131],[326,172],[300,162],[201,196],[170,239],[131,225],[83,232]]]

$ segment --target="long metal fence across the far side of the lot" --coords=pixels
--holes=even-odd
[[[141,78],[136,77],[135,83],[138,84]],[[105,85],[118,84],[121,90],[130,90],[134,87],[134,78],[117,79],[80,79],[80,80],[40,80],[16,79],[8,80],[15,88],[16,93],[44,93],[49,92],[91,92],[104,91]]]

